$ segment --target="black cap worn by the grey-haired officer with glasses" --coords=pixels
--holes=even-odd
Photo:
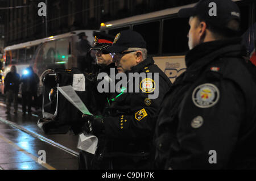
[[[125,30],[115,36],[113,45],[104,49],[109,53],[121,53],[128,48],[146,48],[146,41],[136,31]]]

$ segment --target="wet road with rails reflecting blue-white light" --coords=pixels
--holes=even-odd
[[[37,126],[42,112],[7,115],[0,97],[0,170],[78,169],[78,136],[72,133],[46,135]]]

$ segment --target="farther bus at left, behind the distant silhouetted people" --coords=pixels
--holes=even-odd
[[[94,31],[73,31],[5,47],[3,51],[3,78],[10,71],[12,65],[16,66],[20,76],[22,76],[24,69],[32,66],[39,78],[48,69],[71,69],[79,67],[78,57],[82,53],[83,55],[87,53],[82,52],[82,48],[79,47],[79,41],[81,41],[80,36],[84,33],[91,46],[94,41]],[[92,54],[92,56],[94,55]],[[42,94],[42,88],[43,84],[40,81],[38,95]]]

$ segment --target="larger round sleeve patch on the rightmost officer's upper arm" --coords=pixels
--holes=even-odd
[[[212,83],[205,83],[197,86],[196,89],[193,90],[192,100],[197,107],[212,107],[217,104],[219,99],[220,91],[218,87],[214,86]]]

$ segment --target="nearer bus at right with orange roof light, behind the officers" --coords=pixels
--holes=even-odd
[[[240,35],[243,37],[243,44],[247,48],[248,57],[256,65],[256,2],[233,1],[241,10]],[[179,18],[177,12],[193,6],[195,3],[101,23],[100,31],[114,36],[123,30],[141,33],[147,42],[148,54],[154,58],[155,64],[166,73],[171,82],[174,82],[175,78],[186,70],[184,57],[189,50],[189,19]]]

